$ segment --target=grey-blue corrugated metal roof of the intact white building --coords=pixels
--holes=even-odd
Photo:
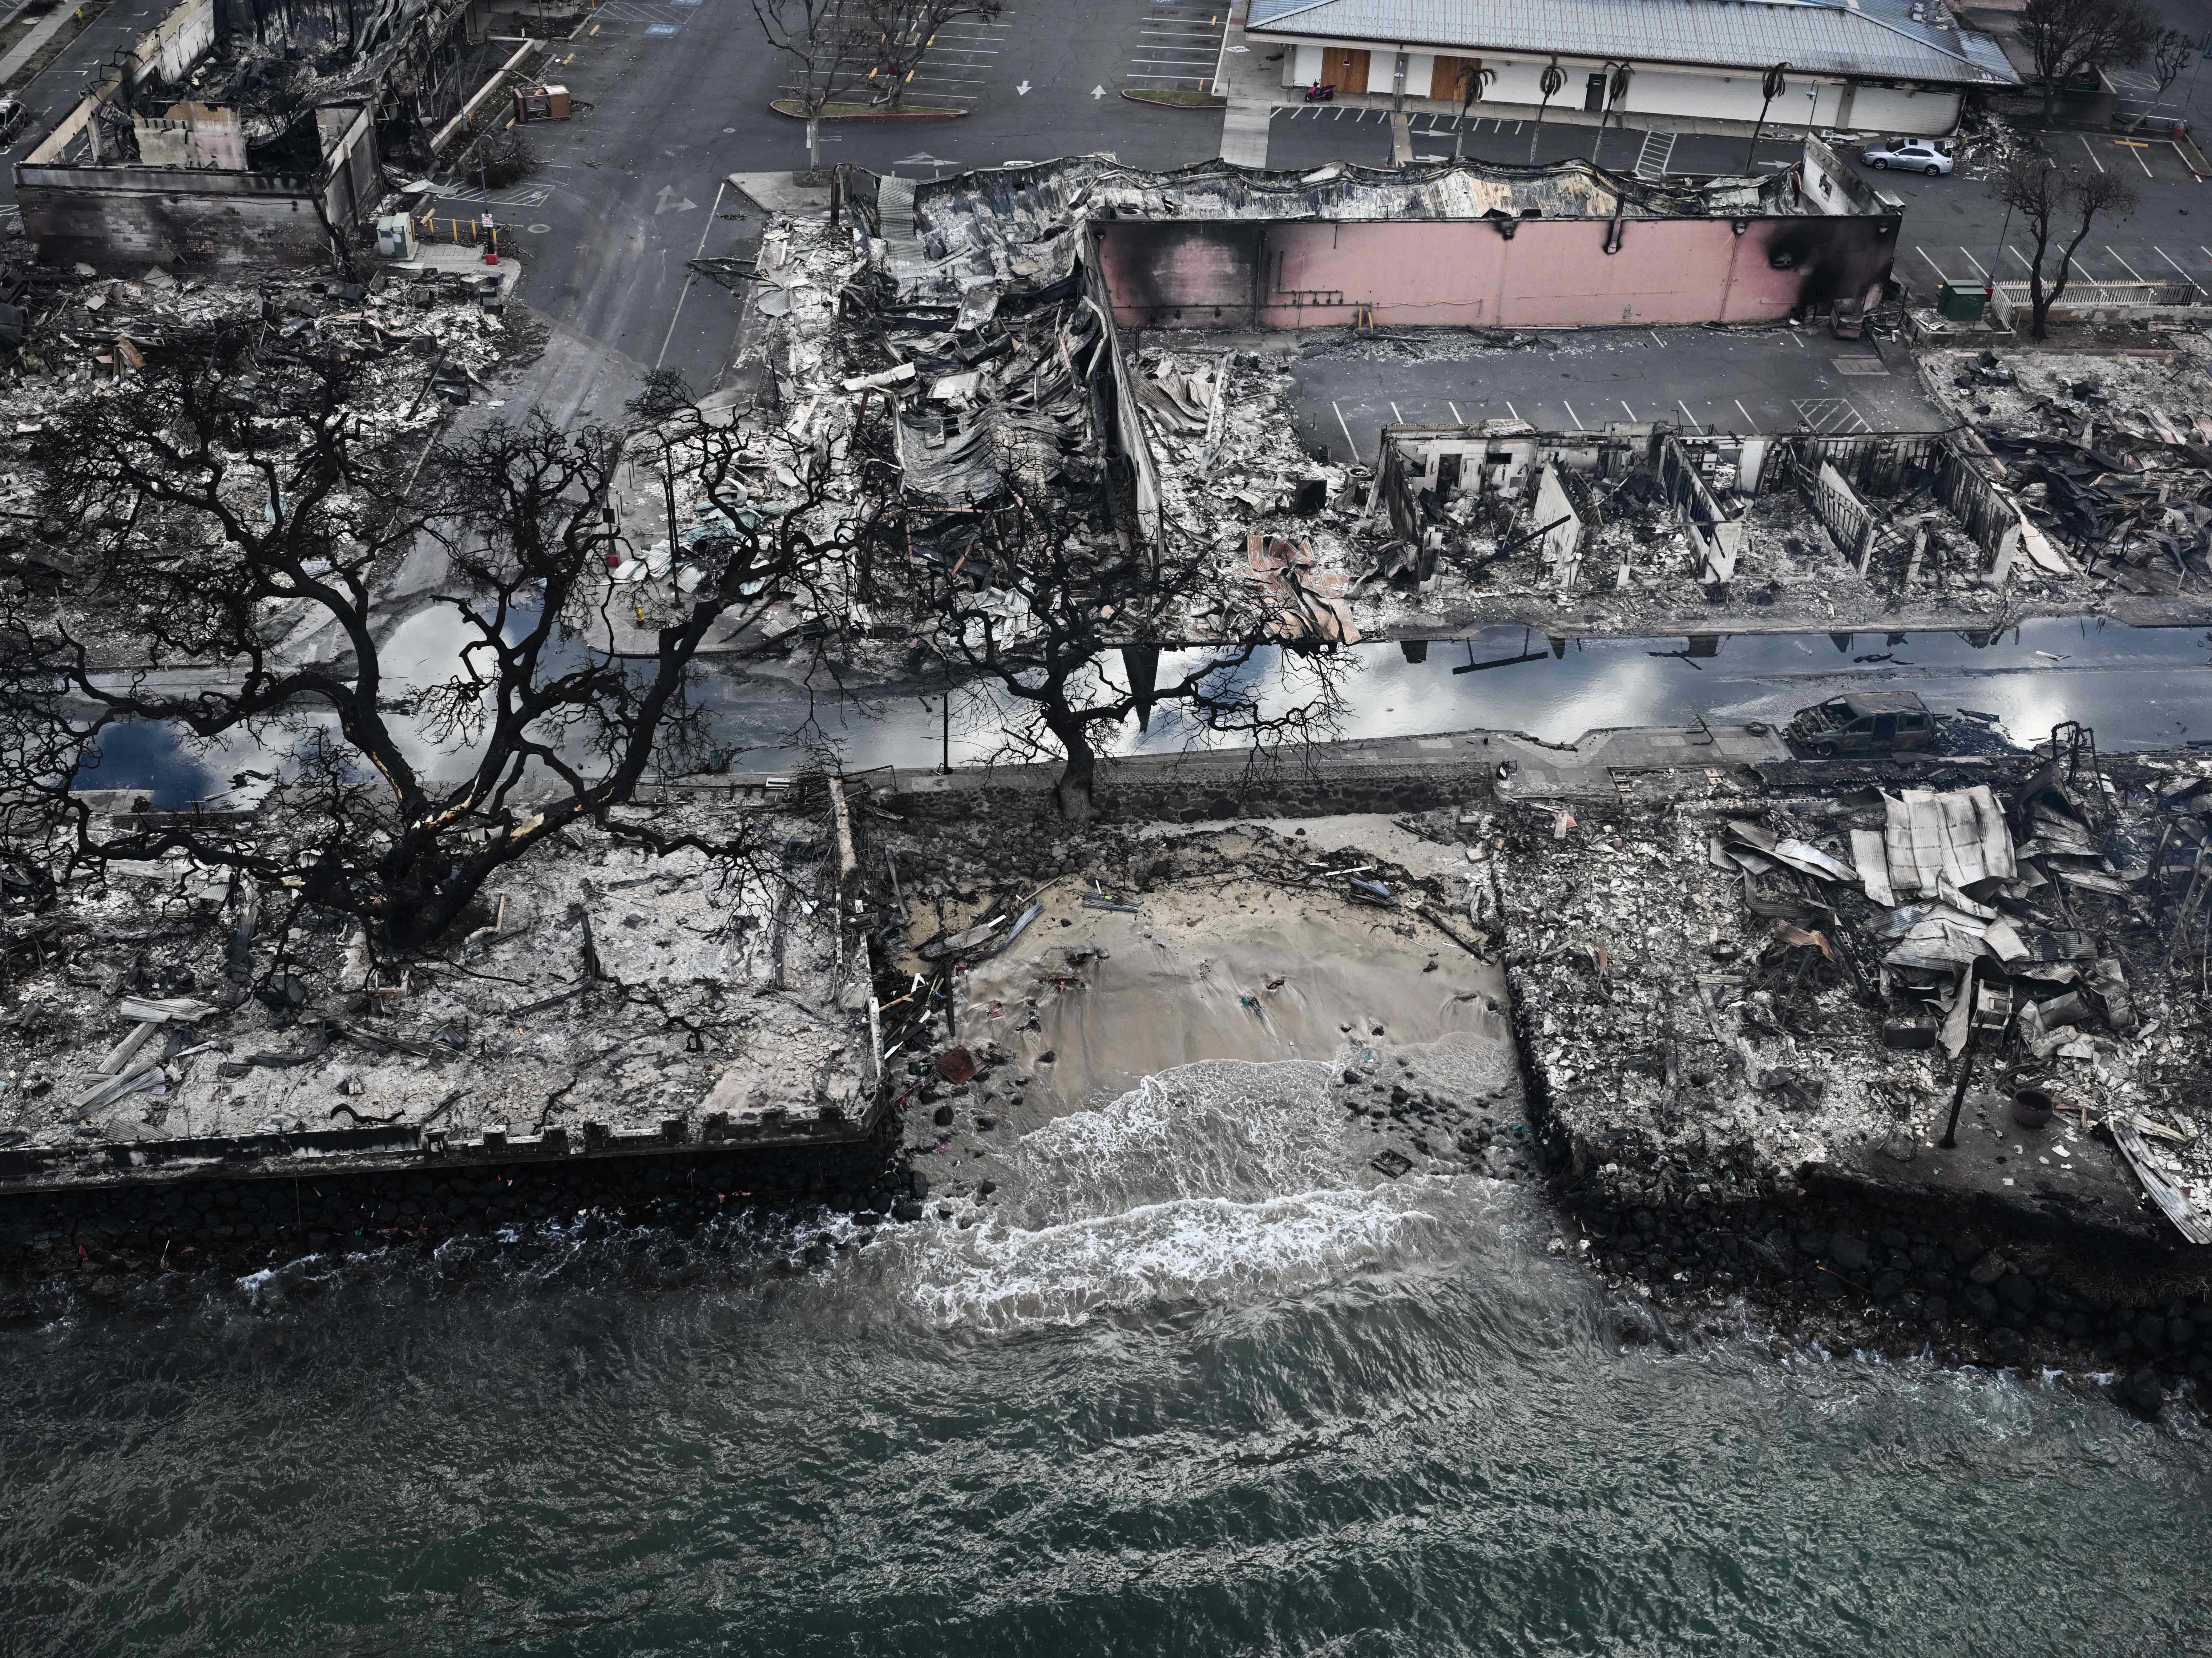
[[[2004,53],[1907,13],[1820,0],[1252,0],[1254,31],[1951,84],[2017,84]]]

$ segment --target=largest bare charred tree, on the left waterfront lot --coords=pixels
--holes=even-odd
[[[816,513],[827,453],[690,409],[655,442],[710,511],[677,526],[670,491],[690,586],[648,619],[611,570],[617,471],[653,464],[635,442],[535,416],[374,442],[352,378],[341,360],[248,376],[219,349],[177,354],[49,422],[40,508],[82,577],[0,586],[7,856],[69,875],[181,851],[354,917],[380,951],[420,948],[568,825],[657,844],[608,811],[697,745],[701,641],[743,648],[770,606],[812,604],[863,533],[849,508]],[[409,617],[451,639],[416,676],[387,661],[398,615],[378,604],[407,555],[442,566]],[[252,831],[188,814],[104,827],[71,789],[139,723],[263,756],[279,783]]]

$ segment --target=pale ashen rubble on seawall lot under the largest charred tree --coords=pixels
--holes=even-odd
[[[580,833],[405,962],[181,853],[44,898],[7,886],[0,1187],[863,1138],[878,1059],[841,898],[858,864],[823,791],[668,791],[617,816],[750,818],[779,853],[750,869]]]

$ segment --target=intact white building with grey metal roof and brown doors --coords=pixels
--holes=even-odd
[[[1557,64],[1546,117],[1697,130],[1756,122],[1776,64],[1787,91],[1770,126],[1944,135],[1969,93],[2020,84],[1997,42],[1940,0],[1250,0],[1243,44],[1283,49],[1285,88],[1438,113],[1486,71],[1484,115],[1533,115]]]

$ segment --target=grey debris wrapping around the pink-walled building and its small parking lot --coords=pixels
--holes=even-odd
[[[1287,557],[1307,573],[1303,590],[1340,612],[1292,606],[1312,639],[1489,623],[1668,634],[1719,615],[1759,630],[1993,632],[2104,606],[2110,562],[2086,570],[2075,537],[2053,533],[2048,489],[1971,433],[1540,433],[1493,420],[1389,427],[1380,455],[1360,455],[1349,431],[1343,453],[1310,449],[1276,336],[1133,327],[1086,239],[1126,223],[1281,221],[1292,208],[1338,223],[1449,219],[1495,190],[1542,212],[1785,212],[1798,188],[1781,175],[1646,188],[1524,172],[1148,175],[1077,157],[918,186],[847,170],[858,223],[779,219],[763,241],[750,418],[825,444],[847,500],[867,495],[872,469],[896,475],[920,570],[967,568],[967,515],[1006,486],[1048,489],[1071,517],[1108,504],[1093,531],[1124,546],[1212,548],[1263,588]],[[1436,338],[1515,340],[1425,329],[1416,347]],[[863,586],[872,630],[911,626],[896,573]],[[1197,612],[1164,643],[1208,637]]]

